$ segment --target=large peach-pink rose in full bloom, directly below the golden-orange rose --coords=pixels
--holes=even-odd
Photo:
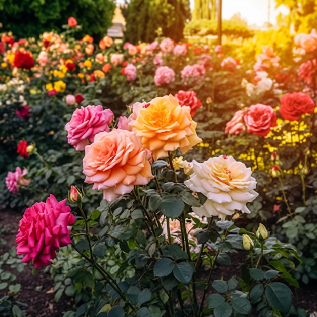
[[[85,182],[93,183],[93,189],[103,190],[103,198],[112,201],[131,192],[134,185],[146,185],[153,178],[146,157],[134,132],[113,129],[98,133],[85,148]]]

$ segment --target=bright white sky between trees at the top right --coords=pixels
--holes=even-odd
[[[287,14],[286,7],[280,6],[275,9],[275,0],[222,0],[222,18],[229,20],[235,13],[240,12],[241,17],[248,21],[248,24],[263,25],[268,21],[268,3],[270,2],[270,21],[276,23],[276,16],[281,11]],[[191,8],[194,7],[194,0],[190,0]]]

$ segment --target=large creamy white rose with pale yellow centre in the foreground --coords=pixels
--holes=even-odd
[[[251,176],[251,168],[225,155],[211,157],[203,163],[193,160],[192,163],[193,173],[184,184],[207,197],[202,206],[192,207],[197,215],[218,216],[224,221],[236,210],[250,213],[246,204],[258,196],[254,191],[256,180]]]

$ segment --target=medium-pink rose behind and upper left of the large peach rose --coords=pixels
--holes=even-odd
[[[68,143],[77,151],[83,151],[89,142],[94,142],[97,133],[110,131],[112,119],[113,112],[110,109],[103,110],[101,105],[76,109],[65,126]]]

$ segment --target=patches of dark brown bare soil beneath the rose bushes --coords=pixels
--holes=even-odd
[[[7,241],[7,244],[0,244],[0,255],[15,247],[15,236],[19,227],[19,221],[22,217],[20,213],[8,210],[0,210],[0,240]],[[239,278],[239,266],[245,259],[243,252],[231,254],[232,264],[217,268],[214,272],[214,278],[228,280],[231,276]],[[23,308],[27,317],[62,317],[65,311],[71,310],[72,299],[62,296],[58,302],[54,301],[54,283],[50,275],[44,272],[44,268],[39,268],[32,273],[32,264],[27,265],[19,273],[8,266],[6,271],[17,276],[14,283],[21,284],[21,291],[15,298],[20,302],[28,304]],[[204,273],[203,273],[204,274]],[[314,281],[309,285],[302,285],[300,289],[292,289],[294,294],[293,303],[296,309],[302,308],[310,313],[317,311],[317,287]],[[7,295],[7,290],[0,290],[0,298]]]

